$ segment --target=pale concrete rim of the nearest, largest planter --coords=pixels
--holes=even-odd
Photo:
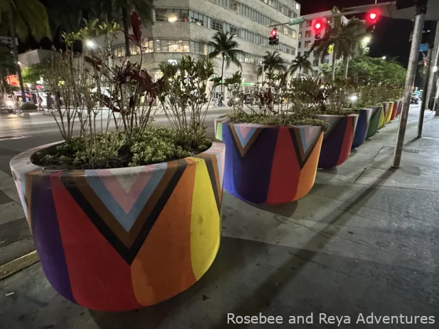
[[[74,173],[75,176],[78,177],[78,175],[86,175],[87,177],[90,176],[106,176],[106,175],[130,175],[132,171],[139,171],[141,168],[151,167],[151,168],[160,168],[163,167],[165,164],[170,163],[176,163],[180,160],[185,160],[188,158],[196,158],[197,156],[200,156],[202,154],[216,154],[219,151],[222,151],[224,148],[224,143],[222,141],[219,141],[215,138],[211,138],[212,145],[209,147],[209,149],[206,149],[206,151],[203,151],[199,154],[195,154],[195,156],[187,157],[187,158],[181,158],[177,160],[172,160],[168,162],[160,162],[160,163],[154,163],[154,164],[147,164],[145,166],[137,166],[137,167],[120,167],[120,168],[109,168],[109,169],[52,169],[39,166],[37,164],[34,164],[31,160],[32,156],[36,154],[36,152],[41,151],[42,149],[47,149],[49,147],[53,147],[58,144],[64,143],[64,141],[50,143],[41,145],[39,147],[34,147],[32,149],[27,149],[26,151],[23,151],[21,154],[18,154],[14,156],[10,160],[10,167],[20,167],[19,171],[22,173],[30,173],[30,174],[50,174],[50,173],[56,173],[58,171],[62,171],[63,173]]]

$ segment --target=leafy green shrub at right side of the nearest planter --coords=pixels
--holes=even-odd
[[[163,63],[160,68],[163,79],[158,99],[166,117],[176,130],[180,143],[197,148],[206,138],[203,125],[210,103],[206,92],[207,82],[214,72],[213,64],[207,58],[195,61],[184,56],[178,64]],[[215,87],[214,83],[211,96]]]

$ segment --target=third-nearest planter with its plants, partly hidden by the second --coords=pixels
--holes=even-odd
[[[320,113],[316,117],[329,123],[324,134],[319,168],[332,168],[345,162],[351,154],[355,127],[359,115],[352,109],[350,97],[353,90],[342,80],[322,87],[325,94],[320,101]]]

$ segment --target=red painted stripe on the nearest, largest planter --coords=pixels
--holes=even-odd
[[[95,310],[141,308],[132,290],[130,265],[76,204],[60,173],[51,176],[51,187],[76,302]]]

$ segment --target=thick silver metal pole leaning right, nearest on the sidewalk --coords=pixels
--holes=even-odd
[[[418,54],[420,38],[423,33],[423,26],[425,22],[425,13],[427,12],[427,5],[418,5],[416,7],[416,17],[414,19],[414,29],[412,38],[412,49],[410,49],[409,65],[407,68],[407,76],[405,77],[405,90],[403,99],[403,110],[401,119],[399,120],[398,136],[396,138],[396,145],[393,157],[394,168],[399,168],[401,164],[401,154],[403,152],[405,127],[407,127],[407,119],[409,116],[410,99],[412,97],[412,88],[414,77],[416,74],[416,67],[418,66]]]

